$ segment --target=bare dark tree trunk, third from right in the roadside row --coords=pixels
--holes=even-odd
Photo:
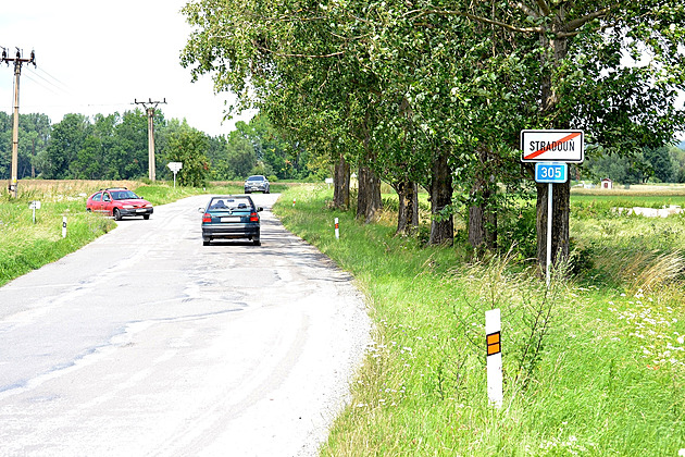
[[[431,238],[432,245],[454,242],[454,221],[449,210],[452,203],[452,172],[448,163],[449,149],[443,147],[433,162],[431,176]],[[447,208],[447,210],[446,210]]]

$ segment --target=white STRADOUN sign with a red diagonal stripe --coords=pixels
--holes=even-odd
[[[584,149],[583,131],[521,131],[522,162],[581,163]]]

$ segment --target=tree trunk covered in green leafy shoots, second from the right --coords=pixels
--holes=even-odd
[[[495,197],[497,195],[496,183],[491,168],[490,151],[485,146],[476,150],[478,157],[477,170],[471,188],[469,206],[469,243],[474,249],[483,247],[495,249],[497,247],[497,212],[495,210]]]

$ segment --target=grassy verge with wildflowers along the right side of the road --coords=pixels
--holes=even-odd
[[[625,220],[574,220],[588,274],[557,277],[547,291],[506,256],[464,263],[454,248],[394,237],[391,217],[363,225],[329,210],[331,197],[324,187],[290,189],[275,208],[289,230],[356,276],[375,323],[352,402],[322,455],[676,456],[685,448],[684,289],[681,274],[660,276],[668,268],[656,261],[670,255],[680,268],[676,236],[668,244],[634,225],[609,237]],[[667,230],[661,220],[627,221]],[[632,270],[600,263],[628,252],[630,233],[662,252]],[[643,280],[651,281],[638,279],[646,265],[653,271]],[[501,409],[486,398],[490,308],[502,310]]]

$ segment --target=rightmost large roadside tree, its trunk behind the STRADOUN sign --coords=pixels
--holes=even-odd
[[[682,86],[685,10],[680,1],[520,1],[482,11],[436,2],[418,15],[458,15],[537,37],[538,112],[522,128],[585,128],[590,141],[635,150],[662,145],[685,122]],[[532,50],[533,51],[533,50]],[[635,58],[626,65],[623,55]],[[640,55],[648,55],[647,62]],[[512,145],[513,146],[513,145]],[[546,263],[547,186],[537,186],[537,258]],[[569,256],[570,185],[555,184],[551,257]]]

